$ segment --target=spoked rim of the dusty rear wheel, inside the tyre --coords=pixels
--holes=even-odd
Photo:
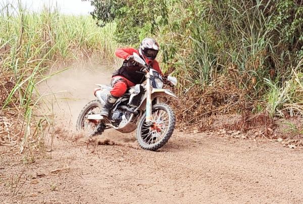
[[[81,129],[85,135],[92,135],[97,128],[97,123],[88,121],[85,119],[85,117],[97,113],[100,113],[100,108],[97,105],[95,105],[95,106],[91,106],[89,109],[87,109],[85,114],[83,114],[83,117],[81,119]]]

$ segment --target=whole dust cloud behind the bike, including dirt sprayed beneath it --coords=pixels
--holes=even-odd
[[[43,106],[46,115],[53,116],[57,137],[79,143],[138,148],[135,133],[122,134],[115,130],[106,130],[102,135],[88,138],[76,131],[78,114],[90,100],[95,99],[95,84],[110,84],[113,66],[73,64],[59,66],[52,73],[66,68],[69,69],[54,75],[39,87],[40,94],[47,95]]]

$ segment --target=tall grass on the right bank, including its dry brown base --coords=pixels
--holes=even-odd
[[[155,37],[164,49],[166,69],[179,76],[181,98],[193,98],[184,102],[192,108],[182,112],[195,121],[229,110],[268,111],[272,117],[302,113],[295,99],[302,93],[294,91],[303,72],[302,3],[166,3],[168,23],[159,25]],[[205,95],[201,103],[196,101],[199,95]]]

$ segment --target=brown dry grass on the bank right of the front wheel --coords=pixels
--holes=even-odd
[[[251,109],[244,96],[244,92],[234,83],[228,83],[228,79],[222,77],[205,90],[197,85],[188,92],[179,92],[179,100],[173,105],[179,121],[186,125],[197,125],[205,117]]]

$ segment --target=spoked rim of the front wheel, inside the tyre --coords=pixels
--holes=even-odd
[[[159,143],[166,135],[169,127],[169,115],[165,110],[157,109],[153,112],[153,126],[143,122],[140,137],[146,145],[153,146]]]

